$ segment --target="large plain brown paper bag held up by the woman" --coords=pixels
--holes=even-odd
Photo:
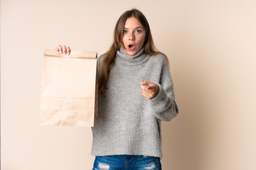
[[[44,50],[40,124],[94,126],[97,118],[97,52]]]

